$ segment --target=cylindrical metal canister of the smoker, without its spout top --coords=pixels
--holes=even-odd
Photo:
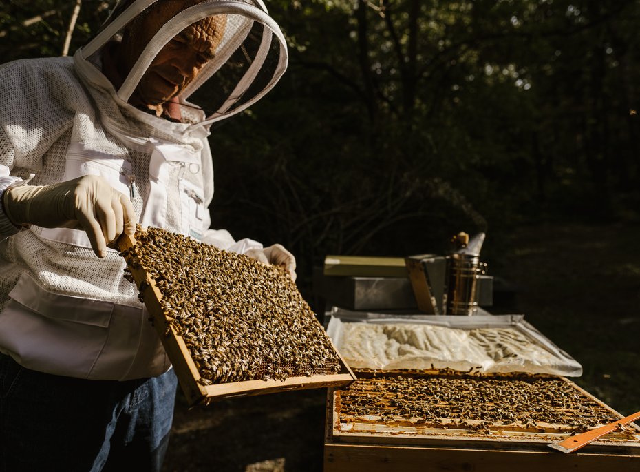
[[[447,287],[447,314],[471,316],[478,313],[478,278],[486,264],[479,254],[454,253],[449,256]]]

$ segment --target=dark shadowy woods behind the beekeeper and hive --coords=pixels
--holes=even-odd
[[[214,227],[326,254],[444,252],[487,232],[504,310],[640,409],[640,1],[267,1],[290,65],[213,130]],[[114,1],[3,1],[3,61],[70,53]],[[15,97],[2,97],[8,101]],[[498,307],[497,307],[498,309]]]

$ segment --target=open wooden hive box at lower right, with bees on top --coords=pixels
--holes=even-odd
[[[633,424],[575,453],[548,447],[622,418],[563,377],[450,370],[356,375],[349,387],[328,393],[327,472],[640,467],[640,429]]]

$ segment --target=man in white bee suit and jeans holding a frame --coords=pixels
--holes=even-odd
[[[139,222],[295,278],[207,210],[211,124],[286,63],[260,0],[127,0],[72,59],[0,67],[0,469],[160,470],[176,380],[109,246]]]

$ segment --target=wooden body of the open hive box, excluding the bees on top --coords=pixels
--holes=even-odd
[[[356,371],[360,380],[344,389],[330,389],[325,443],[325,471],[348,470],[376,471],[596,471],[612,470],[610,467],[628,466],[634,470],[640,466],[640,429],[630,425],[626,430],[615,431],[580,451],[562,454],[552,450],[548,444],[582,431],[576,429],[579,418],[586,415],[602,415],[602,421],[617,420],[622,416],[597,400],[575,383],[562,377],[530,376],[548,378],[559,382],[562,395],[575,395],[574,411],[571,408],[557,415],[554,422],[526,424],[519,420],[492,421],[484,427],[482,420],[466,419],[460,411],[456,418],[438,418],[437,421],[416,420],[410,415],[398,414],[392,406],[390,396],[383,388],[371,384],[361,388],[360,382],[370,382],[376,376],[407,376],[407,372]],[[414,371],[416,378],[451,376],[462,378],[465,373],[443,373],[442,371]],[[471,378],[472,376],[469,376]],[[518,379],[518,376],[484,374],[487,379]],[[384,382],[384,380],[382,380]],[[368,384],[367,384],[368,385]],[[346,396],[345,392],[356,387],[359,394],[376,398],[387,409],[389,415],[345,415],[344,401],[358,402],[357,396]],[[573,393],[572,393],[573,392]],[[419,395],[419,393],[416,393]],[[552,399],[553,400],[553,399]],[[465,399],[460,399],[464,404]],[[387,405],[387,406],[385,406]],[[513,402],[506,396],[504,404],[495,404],[499,409],[512,409]],[[586,413],[588,409],[588,413]],[[463,408],[464,410],[464,408]],[[566,418],[566,419],[563,419]],[[593,423],[593,418],[591,418]],[[480,426],[478,429],[474,425]],[[577,469],[575,469],[577,468]]]

